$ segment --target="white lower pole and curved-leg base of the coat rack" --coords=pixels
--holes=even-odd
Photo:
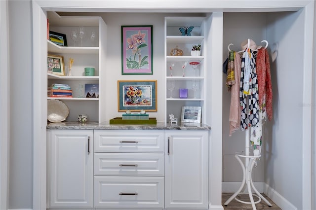
[[[249,155],[249,129],[246,130],[246,151],[245,152],[237,152],[235,154],[235,157],[236,157],[237,161],[240,163],[240,166],[242,168],[243,178],[242,178],[241,185],[240,185],[239,189],[237,190],[237,192],[234,193],[234,195],[232,195],[224,203],[224,205],[227,206],[233,199],[235,199],[236,201],[243,203],[243,204],[251,204],[252,209],[257,210],[256,204],[260,203],[261,199],[262,199],[262,200],[264,200],[264,202],[267,203],[267,205],[269,207],[272,207],[271,203],[258,192],[258,190],[255,188],[255,186],[252,182],[252,178],[251,178],[252,169],[253,169],[253,166],[255,165],[256,159],[260,158],[261,155]],[[240,158],[245,158],[245,164],[243,164],[243,162],[241,161]],[[246,186],[247,186],[248,192],[247,193],[241,192],[241,191],[244,191]],[[253,189],[253,191],[256,194],[252,193],[251,188]],[[250,198],[250,202],[245,202],[245,201],[241,201],[241,200],[237,199],[236,197],[240,194],[248,194],[249,198]],[[254,201],[253,196],[257,197],[258,200]]]

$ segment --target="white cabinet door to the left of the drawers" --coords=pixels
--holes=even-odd
[[[91,207],[93,130],[50,131],[50,207]]]

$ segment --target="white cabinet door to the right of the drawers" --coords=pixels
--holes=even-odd
[[[207,209],[208,131],[166,131],[165,209]]]

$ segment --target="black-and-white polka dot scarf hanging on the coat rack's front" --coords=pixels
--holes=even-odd
[[[244,131],[248,129],[248,127],[258,126],[259,105],[256,61],[254,59],[253,51],[249,48],[247,48],[242,54],[239,102],[241,107],[240,130]]]

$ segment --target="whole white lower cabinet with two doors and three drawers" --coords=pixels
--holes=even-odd
[[[48,208],[208,209],[208,131],[47,134]]]

